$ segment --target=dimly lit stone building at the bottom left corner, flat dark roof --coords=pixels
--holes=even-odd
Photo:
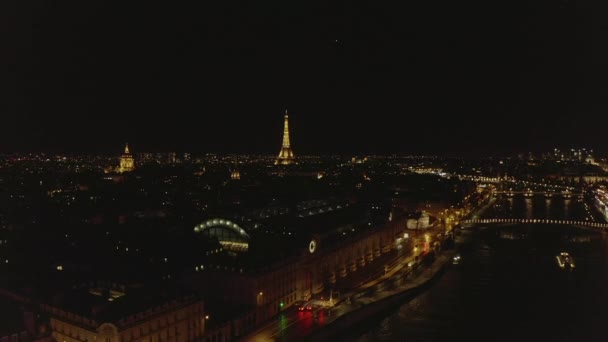
[[[162,290],[83,286],[40,305],[56,341],[194,341],[205,333],[196,296],[164,296]]]

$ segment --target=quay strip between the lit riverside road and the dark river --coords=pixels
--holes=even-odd
[[[361,295],[353,295],[350,299],[338,303],[332,308],[331,316],[325,318],[324,326],[304,339],[309,341],[339,340],[337,335],[344,335],[344,331],[352,329],[354,325],[402,305],[404,301],[414,298],[431,286],[450,264],[455,253],[452,250],[446,251],[436,257],[428,266],[419,264],[417,267],[422,269],[419,269],[420,273],[414,277],[411,275],[417,270],[407,270],[377,284],[371,293],[363,292]]]

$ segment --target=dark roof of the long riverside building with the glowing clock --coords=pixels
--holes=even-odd
[[[309,202],[277,215],[246,224],[249,248],[243,253],[212,251],[198,270],[231,270],[247,272],[280,264],[308,253],[312,239],[323,249],[342,242],[388,221],[389,211],[382,206],[351,203]],[[225,221],[224,221],[225,222]]]

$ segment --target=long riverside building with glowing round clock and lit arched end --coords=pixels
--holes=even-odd
[[[329,299],[332,291],[381,270],[397,255],[405,232],[404,218],[364,205],[310,201],[296,208],[255,221],[213,219],[195,227],[224,246],[224,253],[195,265],[185,279],[211,300],[211,317],[224,317],[216,319],[216,334],[238,337],[295,303]],[[245,244],[234,253],[234,246]],[[240,310],[230,317],[230,308]]]

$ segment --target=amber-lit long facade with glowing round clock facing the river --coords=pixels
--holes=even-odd
[[[252,331],[296,303],[326,296],[352,275],[366,272],[370,267],[383,267],[374,264],[374,260],[396,248],[405,227],[405,218],[392,220],[338,243],[317,235],[302,244],[300,253],[262,270],[248,272],[219,265],[199,266],[188,282],[203,296],[250,308],[209,331],[211,335],[219,334],[229,340]],[[214,316],[211,311],[209,314]]]

